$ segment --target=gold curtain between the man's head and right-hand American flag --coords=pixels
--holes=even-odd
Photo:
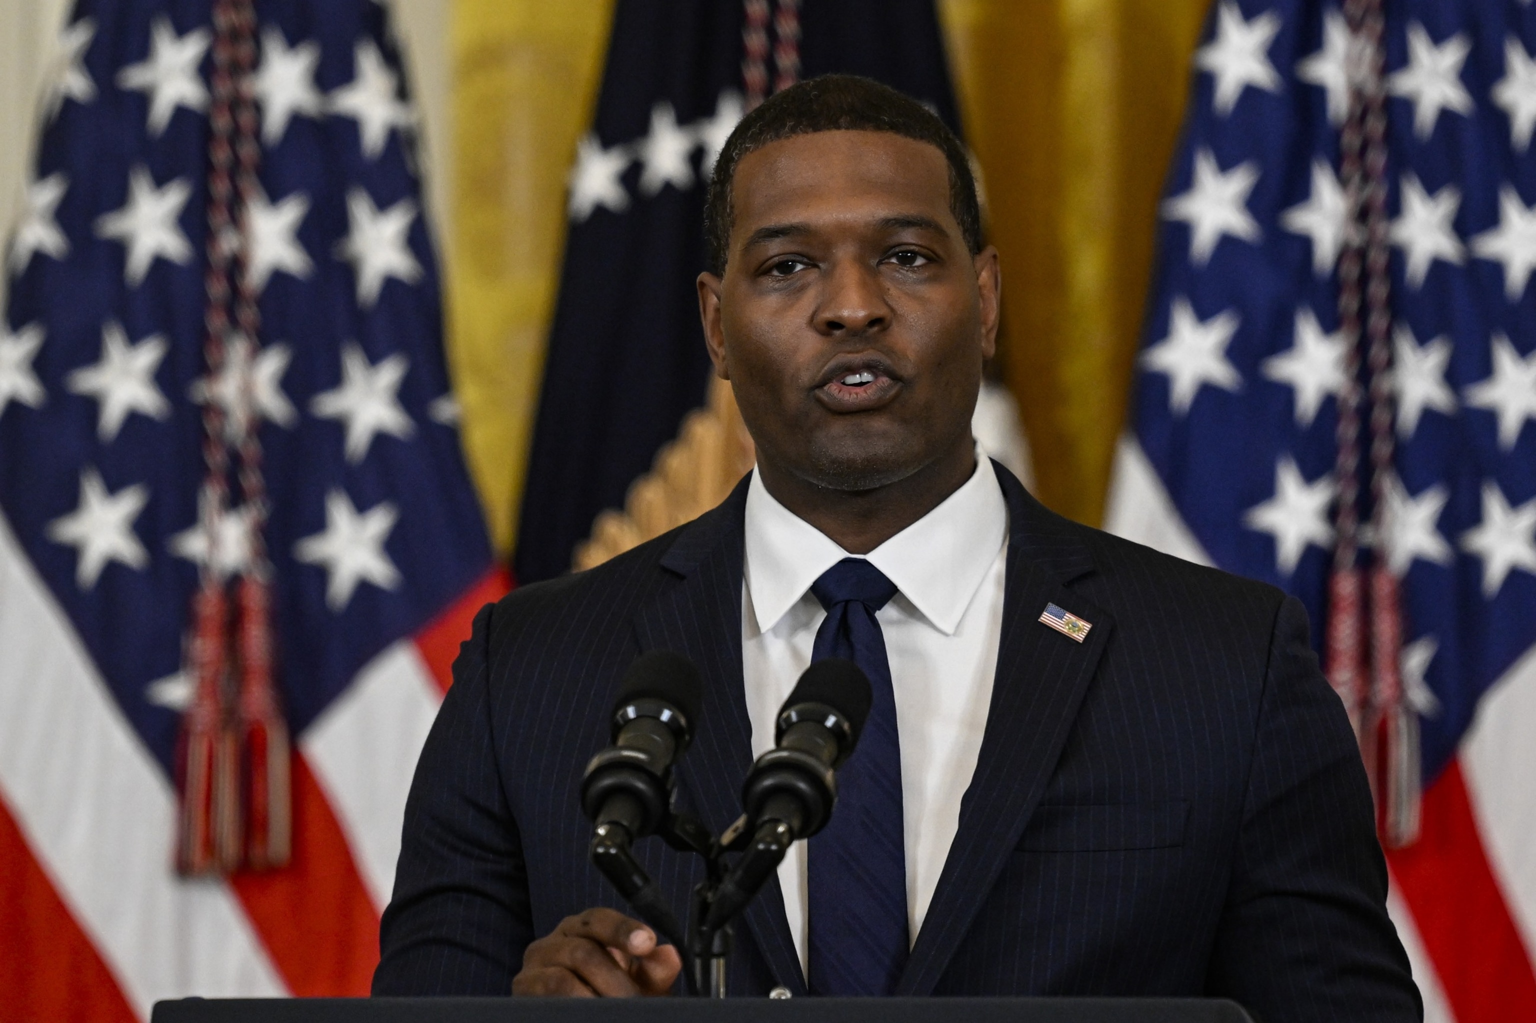
[[[1097,524],[1207,0],[940,0],[1035,493]]]

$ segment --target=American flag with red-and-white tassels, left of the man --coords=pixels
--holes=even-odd
[[[60,51],[0,323],[0,1015],[362,994],[416,753],[504,585],[386,8],[80,0]],[[209,634],[215,685],[243,673],[220,713],[280,708],[289,779],[224,820],[270,856],[187,877]]]

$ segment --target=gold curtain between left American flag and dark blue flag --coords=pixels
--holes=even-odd
[[[453,5],[449,359],[502,553],[516,535],[559,290],[565,175],[591,120],[611,17],[611,0]]]

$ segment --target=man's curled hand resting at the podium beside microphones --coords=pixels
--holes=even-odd
[[[628,998],[664,995],[682,971],[682,957],[656,932],[613,909],[565,917],[554,934],[528,946],[515,995]]]

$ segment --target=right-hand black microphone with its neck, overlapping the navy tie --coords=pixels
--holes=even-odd
[[[708,929],[751,902],[797,839],[826,826],[837,802],[837,768],[852,754],[872,699],[869,677],[852,660],[817,660],[800,676],[779,711],[777,747],[746,776],[743,820],[753,839],[716,891]]]

